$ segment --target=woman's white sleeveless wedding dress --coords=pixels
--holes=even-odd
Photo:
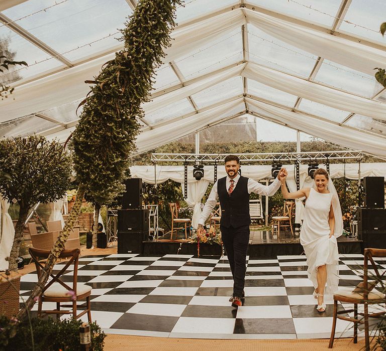
[[[322,265],[327,267],[327,288],[325,294],[332,294],[338,289],[339,283],[339,255],[336,236],[330,236],[328,223],[332,194],[319,193],[310,189],[306,201],[306,209],[300,243],[303,245],[307,257],[308,277],[318,287],[316,280],[317,268]]]

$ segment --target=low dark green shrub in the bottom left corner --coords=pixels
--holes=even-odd
[[[52,318],[32,318],[33,343],[36,351],[76,351],[81,350],[79,327],[81,320]],[[32,350],[31,325],[28,318],[15,322],[5,316],[0,317],[0,350]],[[106,334],[95,322],[90,323],[91,350],[103,351]]]

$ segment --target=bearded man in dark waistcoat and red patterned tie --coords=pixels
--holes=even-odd
[[[233,295],[229,299],[233,307],[242,305],[244,298],[246,256],[249,243],[249,194],[272,196],[280,188],[280,169],[278,177],[269,186],[263,186],[253,179],[239,174],[240,159],[236,155],[225,157],[227,177],[220,178],[214,185],[205,203],[197,228],[198,234],[204,231],[204,224],[213,208],[220,200],[220,231],[233,277]]]

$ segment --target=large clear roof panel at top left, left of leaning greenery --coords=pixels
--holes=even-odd
[[[4,14],[17,20],[23,15],[23,5],[13,7]],[[52,1],[28,1],[30,13],[50,5]],[[126,17],[131,13],[125,0],[70,0],[16,23],[68,60],[74,61],[119,45],[116,38],[121,37],[121,33],[117,33],[118,29],[124,27]],[[100,40],[104,37],[108,38]],[[94,41],[98,42],[92,43]],[[87,45],[89,43],[92,44]]]

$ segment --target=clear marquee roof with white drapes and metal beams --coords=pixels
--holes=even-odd
[[[0,136],[66,140],[85,80],[122,48],[136,0],[0,1],[0,50],[26,61],[0,76]],[[138,151],[222,122],[253,120],[386,158],[384,0],[186,0]],[[79,111],[78,111],[79,113]]]

